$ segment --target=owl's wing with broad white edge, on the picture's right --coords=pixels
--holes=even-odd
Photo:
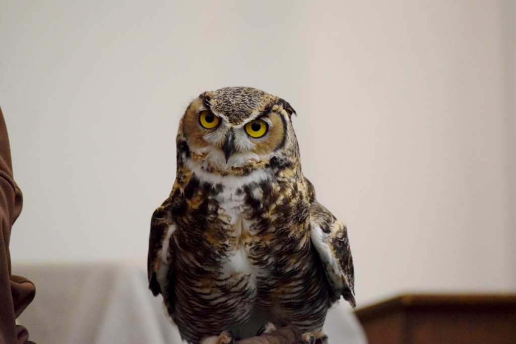
[[[334,297],[338,300],[342,295],[355,307],[353,258],[346,225],[319,204],[315,195],[310,204],[310,238],[325,268]]]

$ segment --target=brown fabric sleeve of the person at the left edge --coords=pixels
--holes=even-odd
[[[15,319],[34,299],[34,285],[11,275],[9,240],[11,226],[22,210],[22,193],[12,178],[9,138],[0,109],[0,343],[26,343],[28,332]]]

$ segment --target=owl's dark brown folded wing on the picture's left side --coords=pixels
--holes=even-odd
[[[157,208],[152,214],[151,232],[149,235],[149,254],[147,256],[147,274],[149,289],[154,296],[163,293],[160,287],[160,279],[163,279],[174,259],[170,252],[170,237],[175,231],[176,224],[172,219],[169,200]]]

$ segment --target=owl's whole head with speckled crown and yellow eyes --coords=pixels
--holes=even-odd
[[[283,99],[250,87],[204,92],[181,119],[178,166],[190,161],[207,172],[245,175],[298,158],[293,113]]]

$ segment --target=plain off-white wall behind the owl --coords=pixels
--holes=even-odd
[[[349,227],[359,305],[516,290],[515,13],[509,0],[2,0],[0,105],[25,202],[12,259],[144,264],[184,108],[253,86],[299,114],[305,175]]]

